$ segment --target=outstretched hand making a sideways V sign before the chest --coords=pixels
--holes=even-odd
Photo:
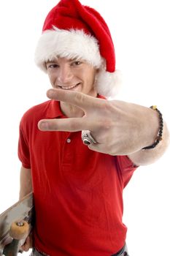
[[[90,130],[97,143],[88,147],[94,151],[112,155],[132,154],[151,145],[158,134],[158,116],[150,108],[61,89],[48,90],[47,97],[74,105],[85,115],[41,120],[39,129],[67,132]]]

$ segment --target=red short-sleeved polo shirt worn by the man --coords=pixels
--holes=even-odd
[[[42,118],[65,118],[49,100],[20,122],[18,155],[31,168],[36,249],[50,256],[110,256],[125,243],[123,188],[135,167],[83,145],[81,132],[42,132]]]

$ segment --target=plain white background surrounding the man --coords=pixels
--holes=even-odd
[[[57,2],[0,3],[0,212],[18,200],[20,118],[45,101],[50,88],[46,75],[34,65],[34,49],[45,16]],[[112,32],[117,69],[124,75],[117,99],[158,105],[169,124],[169,0],[81,2],[101,12]],[[124,190],[123,220],[131,256],[169,253],[169,152],[155,164],[139,167]]]

